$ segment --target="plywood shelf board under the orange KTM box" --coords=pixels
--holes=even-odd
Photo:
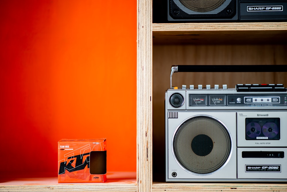
[[[135,172],[107,174],[105,183],[58,183],[57,177],[0,180],[0,191],[137,191]]]

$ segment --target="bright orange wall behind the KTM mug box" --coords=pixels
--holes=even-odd
[[[60,139],[101,137],[136,171],[136,3],[0,1],[0,173],[56,176]]]

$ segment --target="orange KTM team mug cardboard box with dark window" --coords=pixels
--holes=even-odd
[[[106,139],[62,139],[58,142],[58,183],[106,181]]]

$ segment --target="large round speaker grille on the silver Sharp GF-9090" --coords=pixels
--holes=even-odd
[[[225,126],[210,116],[196,116],[177,129],[174,154],[185,169],[208,174],[221,168],[231,152],[231,139]]]

